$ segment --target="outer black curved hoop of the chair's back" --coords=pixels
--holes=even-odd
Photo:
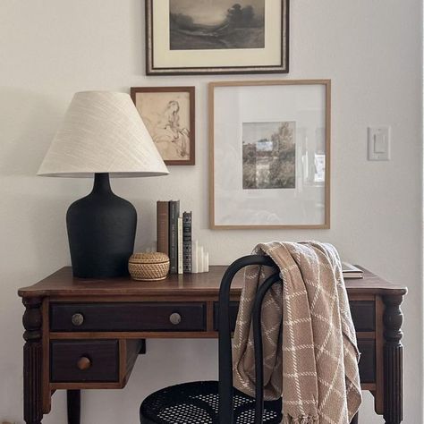
[[[276,268],[276,264],[274,263],[274,261],[267,256],[261,256],[261,255],[244,256],[240,259],[236,259],[233,262],[233,264],[231,264],[226,269],[223,279],[221,281],[220,289],[219,289],[219,305],[218,305],[218,311],[219,311],[218,312],[219,418],[220,418],[220,422],[225,424],[233,423],[233,355],[231,351],[231,328],[230,328],[230,316],[229,316],[230,288],[233,282],[233,277],[237,274],[237,272],[240,271],[243,267],[248,267],[251,265]],[[274,276],[278,276],[278,273],[279,273],[278,268],[276,268],[276,272],[277,274],[274,274],[270,278]],[[267,278],[267,282],[270,278]],[[278,281],[279,279],[280,278],[278,277],[276,281]],[[274,281],[273,284],[276,283],[276,281]],[[271,287],[271,285],[272,284],[270,284],[269,287]],[[259,316],[259,319],[260,319],[260,316]],[[260,321],[259,321],[259,329],[260,329]],[[257,346],[255,343],[255,357],[257,356],[256,349],[257,349]],[[262,362],[262,360],[260,361]],[[259,371],[259,374],[260,374],[260,371]],[[262,381],[263,381],[263,377],[262,377]],[[263,386],[262,386],[262,392],[263,392]],[[256,416],[256,412],[255,412],[255,416]]]

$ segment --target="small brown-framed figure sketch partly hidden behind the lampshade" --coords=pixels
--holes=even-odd
[[[131,87],[131,98],[166,165],[194,165],[194,87]]]

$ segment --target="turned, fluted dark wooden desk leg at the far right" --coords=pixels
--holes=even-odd
[[[384,322],[384,376],[386,424],[399,424],[403,420],[403,336],[401,326],[403,313],[400,305],[403,296],[383,296],[385,303]]]

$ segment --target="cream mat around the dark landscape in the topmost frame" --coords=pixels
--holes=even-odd
[[[152,3],[154,68],[216,68],[225,66],[277,66],[281,64],[282,42],[285,46],[285,31],[284,34],[281,33],[281,0],[267,0],[265,7],[265,48],[226,50],[170,50],[169,0],[154,0]],[[285,22],[285,11],[283,21]],[[278,34],[278,37],[275,34]],[[283,60],[285,60],[285,56],[284,52]],[[183,66],[179,64],[183,64]]]

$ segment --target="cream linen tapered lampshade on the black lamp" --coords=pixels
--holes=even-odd
[[[72,98],[38,175],[169,174],[128,94],[83,91]]]

